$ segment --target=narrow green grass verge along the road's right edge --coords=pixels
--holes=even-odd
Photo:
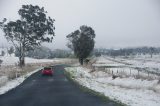
[[[83,85],[80,85],[75,79],[74,79],[74,76],[70,73],[70,72],[67,72],[66,70],[64,71],[64,74],[66,75],[66,77],[68,78],[68,80],[70,80],[72,83],[74,83],[76,86],[78,86],[82,91],[84,92],[89,92],[93,95],[96,95],[98,97],[100,97],[104,102],[109,102],[109,101],[113,101],[111,100],[109,97],[105,96],[104,94],[100,93],[100,92],[97,92],[97,91],[94,91],[92,89],[89,89]],[[121,103],[120,101],[117,101],[117,100],[114,100],[115,101],[115,104],[113,105],[118,105],[118,106],[126,106],[125,104]]]

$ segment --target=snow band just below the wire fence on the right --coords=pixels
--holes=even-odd
[[[116,78],[113,80],[112,77],[107,78],[97,78],[97,81],[100,83],[108,83],[113,86],[120,86],[129,89],[146,89],[146,90],[154,90],[160,93],[160,85],[158,84],[158,80],[142,80],[135,79],[133,77],[129,78]]]

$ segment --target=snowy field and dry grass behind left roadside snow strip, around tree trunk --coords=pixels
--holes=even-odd
[[[26,66],[21,69],[18,67],[18,61],[19,61],[18,57],[15,57],[14,55],[0,56],[0,59],[3,60],[3,63],[0,66],[0,76],[7,76],[9,79],[17,77],[16,73],[23,74],[25,73],[25,71],[33,70],[33,67],[34,69],[36,69],[39,66],[76,63],[76,60],[69,58],[33,59],[26,57],[25,58]]]

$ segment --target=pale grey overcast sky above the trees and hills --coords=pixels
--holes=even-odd
[[[160,0],[0,0],[0,21],[18,19],[23,4],[43,6],[56,20],[50,48],[67,48],[66,35],[81,25],[95,30],[96,47],[160,47]]]

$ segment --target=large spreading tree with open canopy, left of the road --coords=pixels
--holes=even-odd
[[[54,19],[46,15],[44,8],[33,5],[22,5],[18,14],[20,19],[6,23],[1,22],[5,37],[11,41],[19,51],[20,66],[25,65],[26,51],[33,50],[42,42],[52,42],[55,27]]]

